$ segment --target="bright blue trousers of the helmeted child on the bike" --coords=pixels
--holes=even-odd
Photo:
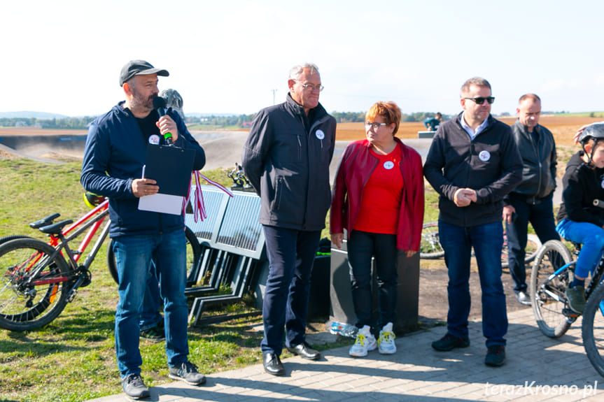
[[[600,260],[604,248],[604,229],[593,223],[565,219],[559,222],[556,231],[566,240],[582,244],[575,265],[575,275],[587,278]]]

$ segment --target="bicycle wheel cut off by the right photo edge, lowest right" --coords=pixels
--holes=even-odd
[[[604,284],[602,283],[587,300],[581,332],[587,358],[596,371],[604,376]]]

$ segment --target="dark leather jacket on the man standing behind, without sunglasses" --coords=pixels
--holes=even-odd
[[[537,143],[526,130],[526,126],[517,120],[512,124],[512,135],[522,157],[522,181],[510,193],[524,197],[544,198],[556,189],[556,143],[552,133],[539,124],[535,127]],[[507,198],[504,202],[507,203]]]

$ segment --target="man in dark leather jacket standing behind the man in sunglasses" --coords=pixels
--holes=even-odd
[[[516,299],[531,305],[526,286],[524,264],[528,222],[541,243],[560,240],[554,221],[556,189],[556,143],[552,133],[539,124],[541,99],[535,94],[520,97],[516,108],[518,120],[512,134],[522,157],[522,182],[503,202],[503,220],[507,234],[507,259],[514,280]]]

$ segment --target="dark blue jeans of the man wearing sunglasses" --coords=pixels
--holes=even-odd
[[[449,269],[449,313],[447,329],[454,336],[468,338],[470,315],[470,253],[476,255],[482,288],[482,333],[486,346],[505,345],[507,312],[501,282],[501,222],[474,227],[459,227],[438,222],[444,262]]]

